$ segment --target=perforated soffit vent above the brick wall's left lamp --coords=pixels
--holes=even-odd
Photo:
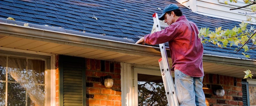
[[[131,56],[131,55],[125,55],[121,57],[116,57],[116,58],[111,58],[108,59],[107,61],[115,61],[115,62],[129,62],[137,59],[144,58],[143,56]]]

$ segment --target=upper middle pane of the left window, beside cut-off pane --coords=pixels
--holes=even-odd
[[[26,59],[8,57],[8,81],[27,82]]]

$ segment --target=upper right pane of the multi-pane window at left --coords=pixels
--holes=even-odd
[[[44,61],[28,59],[28,82],[44,84]]]

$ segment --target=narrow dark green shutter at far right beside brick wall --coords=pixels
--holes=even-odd
[[[243,106],[250,106],[249,98],[249,84],[246,81],[242,81],[242,92],[243,92]]]

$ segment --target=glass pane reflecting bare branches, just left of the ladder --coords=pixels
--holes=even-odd
[[[139,106],[166,106],[162,76],[138,74],[138,103]]]

